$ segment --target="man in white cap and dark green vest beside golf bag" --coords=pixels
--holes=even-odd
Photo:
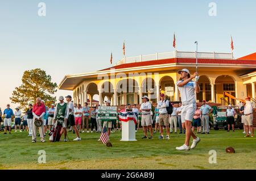
[[[57,103],[56,110],[53,116],[53,124],[56,121],[62,122],[61,134],[64,132],[64,141],[67,141],[67,120],[69,115],[68,104],[64,102],[64,97],[59,96],[59,103]]]

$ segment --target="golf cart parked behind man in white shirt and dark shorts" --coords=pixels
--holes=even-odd
[[[228,130],[228,123],[226,121],[226,109],[228,106],[218,106],[218,112],[216,116],[216,120],[214,122],[214,130],[218,130],[224,128]],[[234,110],[236,110],[236,115],[234,116],[234,128],[243,129],[243,124],[241,121],[241,114],[239,113],[240,109],[238,106],[232,106]]]

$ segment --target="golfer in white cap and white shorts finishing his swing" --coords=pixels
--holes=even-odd
[[[191,130],[191,122],[196,111],[195,92],[200,92],[198,83],[199,75],[197,72],[193,75],[190,75],[188,69],[179,70],[178,73],[181,75],[182,80],[177,81],[176,86],[178,86],[181,95],[181,123],[185,123],[186,137],[184,145],[176,147],[176,149],[189,150],[189,140],[191,136],[193,137],[191,149],[195,148],[196,145],[200,142],[200,138],[197,137]],[[193,78],[195,78],[195,82],[192,81]]]

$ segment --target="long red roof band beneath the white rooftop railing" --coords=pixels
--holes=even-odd
[[[144,62],[134,62],[129,64],[121,64],[117,66],[113,66],[112,68],[107,68],[104,70],[110,69],[125,69],[125,68],[133,68],[138,66],[149,66],[149,65],[162,65],[162,64],[172,64],[172,63],[196,63],[196,58],[170,58],[165,60],[152,60],[152,61],[144,61]],[[226,59],[198,59],[199,64],[254,64],[256,65],[255,60],[226,60]]]

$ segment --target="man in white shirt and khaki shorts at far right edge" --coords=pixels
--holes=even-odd
[[[245,115],[245,130],[246,130],[246,136],[245,137],[250,137],[251,132],[251,137],[254,137],[254,129],[253,129],[253,104],[250,102],[251,98],[247,97],[246,98],[246,105],[245,105],[245,110],[243,111]]]

